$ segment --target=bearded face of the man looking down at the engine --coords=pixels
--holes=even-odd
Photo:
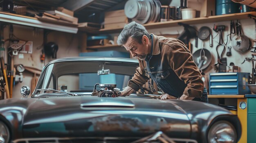
[[[132,57],[138,57],[141,60],[146,59],[148,54],[146,44],[139,44],[132,37],[129,37],[123,46],[131,53]]]

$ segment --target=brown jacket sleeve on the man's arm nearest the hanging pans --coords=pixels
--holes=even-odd
[[[171,68],[187,85],[183,94],[189,97],[201,97],[204,82],[190,51],[182,44],[175,44],[171,47],[168,57]]]

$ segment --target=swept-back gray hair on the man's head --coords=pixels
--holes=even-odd
[[[146,28],[143,25],[138,24],[135,21],[130,22],[129,24],[126,24],[124,26],[124,29],[118,36],[117,44],[118,45],[126,44],[129,37],[132,37],[139,44],[141,44],[142,43],[141,39],[142,39],[143,35],[146,35],[148,37],[148,39],[151,39],[150,35],[148,34],[148,31],[146,30]]]

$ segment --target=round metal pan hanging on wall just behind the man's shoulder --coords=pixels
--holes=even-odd
[[[210,64],[211,64],[211,52],[205,48],[203,48],[204,50],[204,62],[202,63],[202,67],[200,68],[200,70],[204,70],[205,68],[207,68]],[[201,61],[201,49],[195,51],[195,53],[193,53],[193,59],[194,62],[197,66],[199,66],[200,61]]]

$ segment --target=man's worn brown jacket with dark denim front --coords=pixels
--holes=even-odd
[[[159,88],[174,97],[182,94],[201,97],[204,90],[202,75],[184,43],[175,38],[153,35],[152,45],[152,56],[149,54],[145,60],[138,59],[139,67],[128,86],[137,91],[152,78]]]

